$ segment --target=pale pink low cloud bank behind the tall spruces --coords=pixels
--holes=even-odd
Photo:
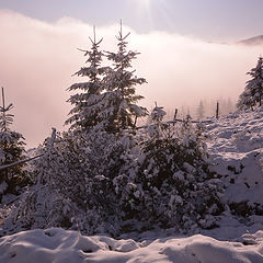
[[[116,50],[118,25],[98,27],[103,50]],[[141,104],[190,107],[199,100],[233,101],[248,80],[262,46],[206,43],[164,32],[137,34],[130,28],[130,49],[140,52],[136,73],[148,84],[138,87]],[[46,23],[7,10],[0,11],[0,85],[14,103],[14,128],[28,147],[43,142],[50,128],[62,129],[70,110],[66,91],[83,78],[71,77],[85,58],[77,48],[90,48],[92,25],[71,18]]]

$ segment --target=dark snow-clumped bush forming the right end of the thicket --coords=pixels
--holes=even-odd
[[[203,127],[162,125],[144,142],[145,155],[135,182],[144,191],[140,219],[149,225],[194,231],[216,226],[224,210],[222,186],[209,172]]]

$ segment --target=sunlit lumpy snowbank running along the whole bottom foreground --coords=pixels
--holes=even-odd
[[[60,228],[30,230],[0,239],[0,262],[176,262],[261,263],[263,231],[244,235],[241,242],[218,241],[202,235],[135,242],[105,236],[85,237]]]

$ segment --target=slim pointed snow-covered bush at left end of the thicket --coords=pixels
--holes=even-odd
[[[55,179],[65,180],[68,167],[65,165],[62,147],[55,147],[56,136],[61,139],[54,129],[53,136],[37,149],[43,157],[32,163],[30,175],[33,185],[22,194],[18,208],[11,215],[20,229],[66,227],[65,204],[68,199],[60,194],[61,188],[56,186]]]

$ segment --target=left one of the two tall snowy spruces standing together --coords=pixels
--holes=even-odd
[[[105,90],[104,77],[108,68],[101,66],[103,53],[99,48],[103,38],[98,42],[95,27],[93,30],[94,38],[90,38],[91,50],[80,49],[88,57],[87,62],[89,65],[75,73],[87,77],[88,81],[75,83],[68,89],[69,91],[80,91],[68,100],[73,105],[73,108],[69,112],[71,116],[66,121],[66,124],[71,125],[71,129],[89,130],[105,121],[105,116],[102,114],[105,107],[105,95],[102,92]]]

